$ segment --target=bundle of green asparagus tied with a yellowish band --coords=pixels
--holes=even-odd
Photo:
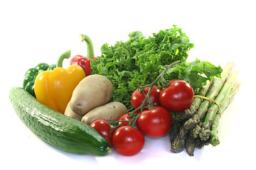
[[[193,156],[196,147],[220,143],[218,124],[221,113],[241,86],[237,81],[238,70],[233,69],[233,66],[233,62],[225,64],[221,78],[208,81],[206,86],[199,89],[190,108],[175,113],[170,132],[171,152],[178,153],[186,149],[188,155]]]

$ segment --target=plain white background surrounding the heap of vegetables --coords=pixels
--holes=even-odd
[[[255,161],[255,4],[254,1],[1,1],[0,169],[253,169]],[[104,43],[182,28],[195,47],[188,61],[207,60],[223,66],[235,62],[242,88],[220,119],[220,145],[169,152],[169,137],[146,137],[134,157],[114,151],[106,157],[69,154],[43,142],[18,119],[9,90],[40,62],[55,63],[65,50],[86,55],[80,33],[90,36],[95,55]],[[69,60],[64,66],[68,67]],[[4,168],[5,167],[5,168]],[[163,168],[166,167],[166,168]],[[250,167],[250,168],[249,168]]]

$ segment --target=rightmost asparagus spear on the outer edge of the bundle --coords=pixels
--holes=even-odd
[[[233,100],[233,97],[240,89],[240,82],[236,82],[233,89],[231,89],[230,93],[228,94],[228,98],[225,98],[225,101],[223,101],[223,105],[221,106],[221,112],[225,111],[225,109],[228,107],[230,102]],[[220,141],[218,140],[218,124],[220,120],[220,113],[217,113],[213,119],[213,125],[211,127],[210,131],[210,144],[213,146],[217,146],[220,144]]]

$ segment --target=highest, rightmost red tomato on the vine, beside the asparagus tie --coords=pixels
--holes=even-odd
[[[187,81],[174,79],[170,86],[161,90],[159,96],[161,106],[172,112],[181,112],[193,102],[193,88]]]

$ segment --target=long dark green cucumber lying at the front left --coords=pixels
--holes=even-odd
[[[110,144],[85,123],[49,108],[21,87],[9,93],[14,110],[23,123],[42,140],[74,154],[105,156]]]

